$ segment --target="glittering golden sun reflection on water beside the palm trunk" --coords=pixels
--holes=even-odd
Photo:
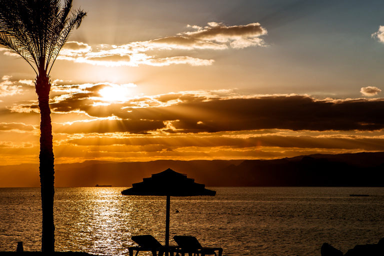
[[[120,188],[79,187],[56,189],[56,249],[120,254],[132,242],[132,202]],[[58,220],[59,219],[59,220]],[[126,238],[124,238],[126,237]],[[72,241],[68,245],[67,241]],[[85,248],[84,248],[85,247]]]

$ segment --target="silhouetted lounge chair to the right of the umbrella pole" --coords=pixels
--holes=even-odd
[[[216,254],[216,250],[218,251],[218,256],[221,256],[222,254],[222,248],[219,247],[202,247],[201,244],[198,242],[196,237],[189,236],[189,235],[175,235],[173,236],[173,239],[179,246],[175,251],[178,253],[181,253],[181,256],[184,256],[185,253],[188,253],[189,256],[192,256],[192,253],[194,255],[209,255],[209,254]]]

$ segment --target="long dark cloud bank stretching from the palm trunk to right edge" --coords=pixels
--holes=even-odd
[[[370,131],[384,128],[383,98],[316,100],[306,95],[209,98],[203,94],[172,93],[135,98],[124,103],[97,104],[100,102],[94,99],[97,96],[97,89],[90,88],[83,93],[55,99],[51,109],[61,113],[82,111],[89,116],[114,119],[99,121],[97,125],[95,122],[81,122],[76,129],[67,125],[69,133],[75,130],[199,133],[260,129]],[[116,117],[121,120],[115,120]],[[92,128],[88,128],[90,125]],[[64,129],[61,132],[65,132]]]

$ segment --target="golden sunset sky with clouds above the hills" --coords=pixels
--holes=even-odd
[[[74,0],[55,163],[384,150],[384,1]],[[0,165],[36,163],[35,73],[0,47]]]

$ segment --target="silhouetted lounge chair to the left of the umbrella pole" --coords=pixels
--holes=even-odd
[[[164,252],[167,251],[167,248],[150,234],[134,235],[131,237],[131,239],[136,242],[138,246],[132,246],[128,248],[129,256],[133,256],[133,251],[136,251],[135,256],[137,256],[139,251],[151,251],[153,256],[162,256]],[[173,256],[173,250],[175,247],[176,246],[168,247],[168,251],[171,256]]]

